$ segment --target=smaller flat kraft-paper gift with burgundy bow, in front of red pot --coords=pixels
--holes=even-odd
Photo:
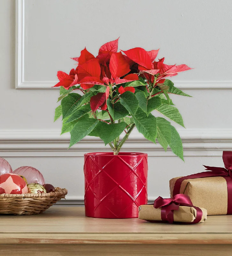
[[[178,194],[173,198],[159,196],[154,204],[140,205],[138,218],[150,222],[195,224],[206,221],[207,211],[194,206],[189,196]]]

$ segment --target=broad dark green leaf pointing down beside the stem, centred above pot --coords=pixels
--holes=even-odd
[[[98,124],[97,133],[98,136],[105,142],[105,145],[115,140],[126,128],[127,124],[121,122],[118,124],[106,124],[101,122]]]

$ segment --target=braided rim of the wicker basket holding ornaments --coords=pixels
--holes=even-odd
[[[65,196],[67,195],[68,190],[66,188],[56,188],[55,192],[49,193],[38,193],[38,194],[0,194],[0,199],[4,198],[35,198],[35,197],[57,197],[57,196]]]

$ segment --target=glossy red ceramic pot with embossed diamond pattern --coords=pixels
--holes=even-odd
[[[138,206],[147,204],[147,154],[100,152],[84,156],[86,216],[137,218]]]

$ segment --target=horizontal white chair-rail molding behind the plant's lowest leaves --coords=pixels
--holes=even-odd
[[[221,156],[223,150],[232,148],[232,129],[179,130],[183,140],[184,156]],[[86,152],[110,151],[97,137],[87,136],[67,150],[70,134],[60,131],[0,131],[0,155],[5,157],[82,157]],[[175,156],[170,149],[165,152],[157,143],[146,140],[133,131],[123,145],[123,151],[146,152],[149,156]],[[175,156],[176,157],[176,156]]]

